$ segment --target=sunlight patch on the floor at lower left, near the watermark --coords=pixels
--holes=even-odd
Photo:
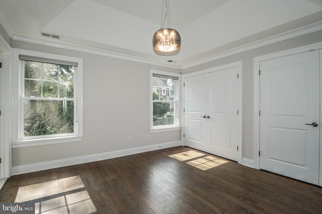
[[[35,202],[36,214],[97,211],[79,175],[19,187],[15,202]]]

